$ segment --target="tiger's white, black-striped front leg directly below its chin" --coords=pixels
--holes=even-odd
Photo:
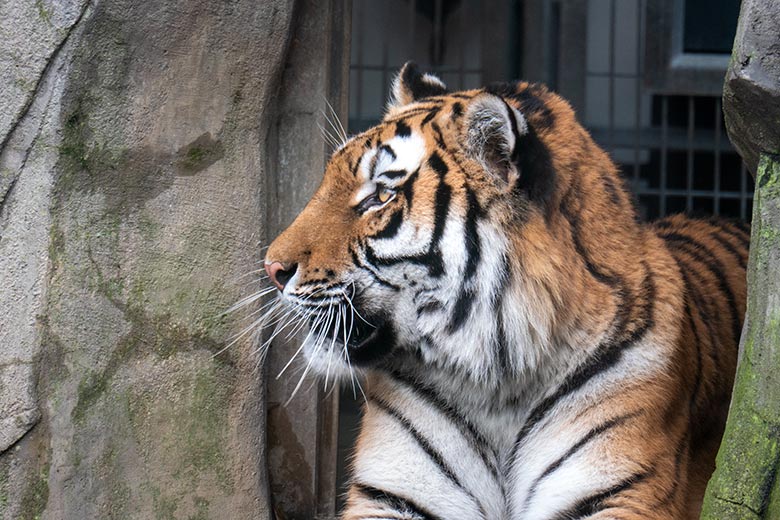
[[[377,377],[368,389],[342,519],[505,518],[495,461],[474,434],[430,396]]]

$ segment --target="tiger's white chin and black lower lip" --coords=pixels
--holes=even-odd
[[[381,365],[392,355],[397,339],[389,320],[377,316],[356,323],[346,334],[330,330],[324,335],[324,341],[322,337],[310,335],[303,350],[312,370],[326,378],[349,378]]]

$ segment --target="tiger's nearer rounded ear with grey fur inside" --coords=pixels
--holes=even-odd
[[[519,141],[528,124],[519,110],[493,94],[480,94],[466,108],[466,153],[505,185],[520,176]]]

